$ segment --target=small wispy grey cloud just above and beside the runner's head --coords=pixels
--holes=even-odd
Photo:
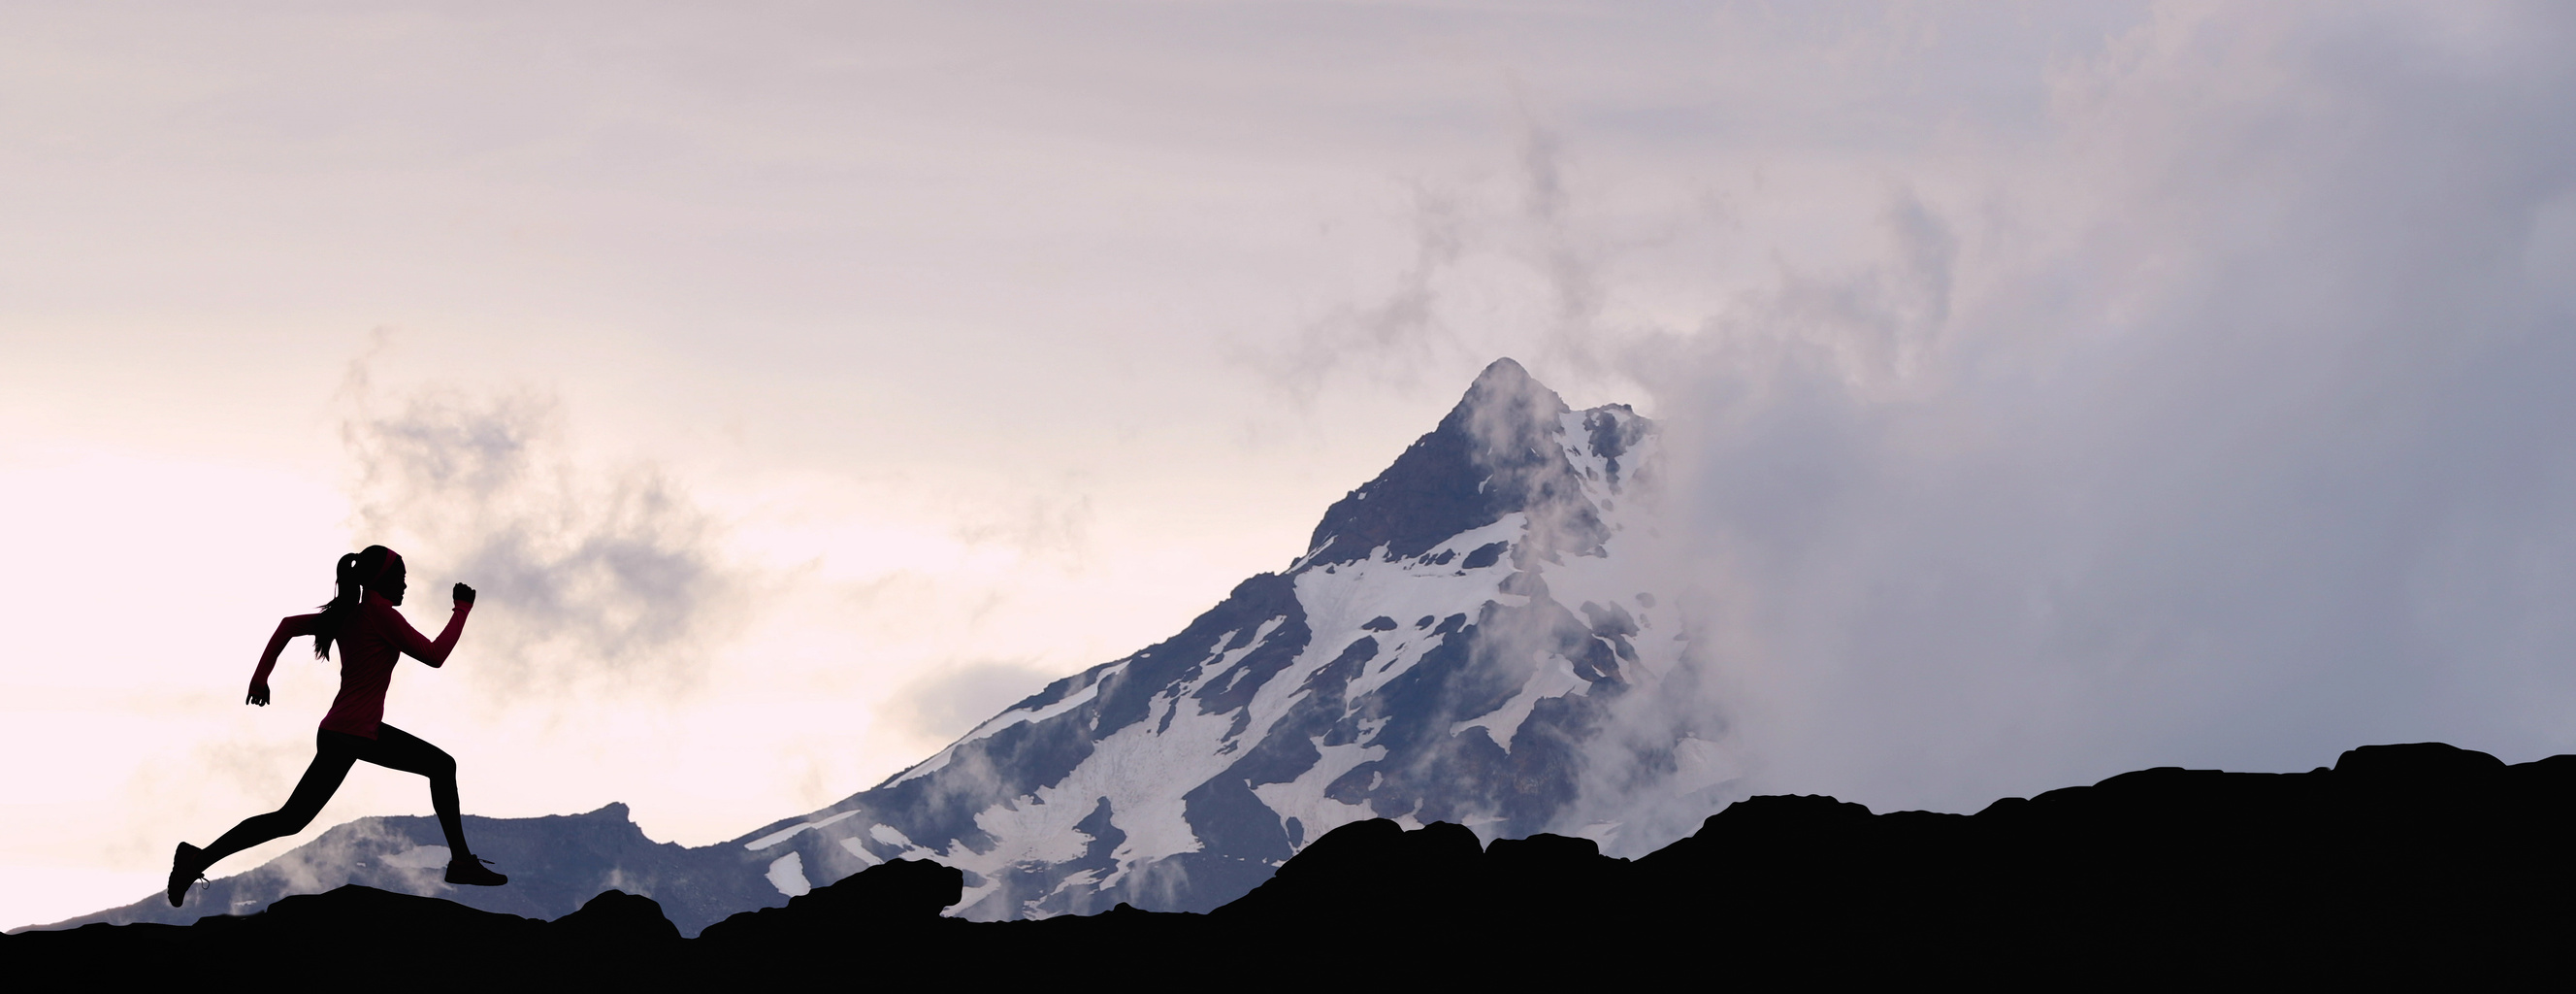
[[[683,690],[744,626],[757,574],[662,469],[577,461],[562,404],[536,389],[384,399],[371,361],[343,391],[353,541],[404,554],[415,613],[448,582],[477,587],[477,675]]]

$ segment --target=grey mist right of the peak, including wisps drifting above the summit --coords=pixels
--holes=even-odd
[[[1530,88],[1267,355],[1288,399],[1515,355],[1659,422],[1620,556],[1690,667],[1564,829],[2576,749],[2576,18],[2123,10],[1726,8],[1710,72],[1811,116],[1672,108],[1741,139],[1677,180]]]

